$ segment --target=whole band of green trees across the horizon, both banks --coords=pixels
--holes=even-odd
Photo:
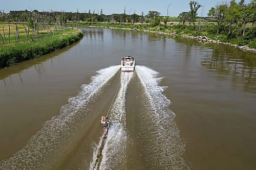
[[[225,33],[232,35],[234,31],[242,29],[242,36],[245,35],[246,25],[251,22],[254,25],[256,18],[256,0],[251,0],[249,4],[245,4],[244,0],[240,0],[239,3],[236,3],[235,0],[231,0],[230,3],[219,3],[215,7],[212,7],[207,15],[208,17],[198,16],[198,10],[203,6],[197,1],[189,2],[190,11],[185,11],[179,14],[178,20],[184,25],[194,25],[199,20],[199,32],[201,31],[201,22],[200,20],[204,18],[206,22],[205,25],[210,25],[214,23],[216,26],[216,34]],[[152,27],[160,25],[161,22],[164,22],[167,25],[167,22],[170,21],[170,17],[160,16],[161,13],[158,11],[148,11],[146,15],[142,11],[140,15],[134,13],[126,14],[126,9],[124,8],[123,13],[121,14],[103,14],[103,10],[100,12],[89,9],[88,11],[79,12],[78,9],[76,12],[65,12],[65,11],[37,11],[37,10],[25,10],[25,11],[10,11],[9,13],[4,13],[0,10],[0,21],[14,23],[16,25],[16,39],[19,38],[18,32],[18,23],[21,23],[26,32],[27,40],[29,35],[33,40],[35,40],[36,35],[42,30],[46,29],[47,34],[58,33],[58,31],[63,31],[63,28],[66,28],[66,23],[69,22],[69,26],[75,27],[79,25],[81,21],[88,22],[141,22],[141,23],[150,23]],[[199,19],[200,18],[200,19]],[[10,26],[9,26],[10,28]],[[210,30],[212,31],[212,30]],[[3,28],[3,36],[6,39],[6,35]],[[254,34],[254,33],[253,33]],[[0,36],[4,42],[4,38],[0,32]],[[10,36],[10,29],[8,37]],[[255,35],[252,35],[255,37]],[[9,42],[9,38],[8,38]]]

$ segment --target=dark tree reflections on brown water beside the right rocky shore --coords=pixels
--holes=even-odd
[[[228,45],[200,43],[196,40],[177,37],[177,42],[187,45],[186,54],[191,47],[199,50],[200,64],[221,75],[231,75],[232,83],[244,78],[243,90],[256,93],[256,58],[251,52],[243,52],[239,48]]]

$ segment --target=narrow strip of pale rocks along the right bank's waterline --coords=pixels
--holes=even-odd
[[[116,28],[116,27],[104,27],[104,26],[100,26],[100,27],[89,26],[89,27],[92,27],[92,28],[109,28],[109,29],[143,31],[143,32],[148,32],[148,33],[164,34],[164,35],[171,35],[171,36],[176,36],[176,37],[177,36],[181,36],[183,38],[190,38],[190,39],[194,39],[194,40],[197,40],[197,41],[200,41],[200,42],[203,42],[203,43],[216,43],[216,44],[230,45],[230,46],[239,48],[240,50],[242,50],[244,52],[249,51],[249,52],[252,52],[252,53],[256,53],[256,48],[250,48],[247,45],[241,46],[241,45],[238,45],[238,44],[231,44],[231,43],[228,43],[228,42],[222,42],[220,40],[212,40],[212,39],[210,39],[210,38],[208,38],[206,36],[189,36],[189,35],[186,35],[186,34],[178,35],[176,33],[164,33],[164,32],[160,32],[160,31],[139,30],[137,28],[130,29],[130,28]]]

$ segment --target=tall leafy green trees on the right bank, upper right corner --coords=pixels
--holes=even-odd
[[[179,14],[181,23],[188,22],[190,25],[195,25],[197,11],[202,7],[198,2],[189,2],[190,11],[182,12]],[[232,34],[236,29],[231,32],[232,26],[243,29],[243,36],[245,35],[247,23],[254,25],[256,19],[256,0],[251,0],[249,4],[245,4],[244,0],[236,3],[235,0],[231,0],[230,3],[219,3],[215,7],[211,7],[207,13],[212,22],[217,22],[216,34],[226,29],[228,26],[228,34]]]

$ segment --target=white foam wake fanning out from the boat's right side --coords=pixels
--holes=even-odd
[[[146,115],[147,123],[151,124],[148,136],[148,160],[156,160],[158,167],[163,169],[189,169],[181,155],[185,152],[185,143],[181,140],[179,129],[174,121],[175,113],[168,109],[170,100],[162,94],[166,87],[159,86],[161,78],[158,72],[145,66],[136,66],[136,72],[144,88],[150,111]],[[154,165],[153,165],[154,166]],[[152,167],[153,168],[153,167]]]

